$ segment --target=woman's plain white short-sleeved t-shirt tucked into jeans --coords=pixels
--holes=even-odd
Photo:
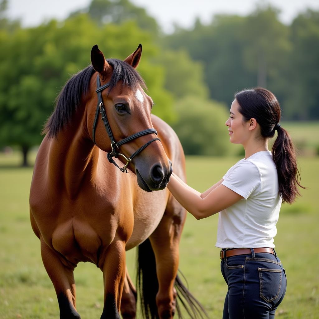
[[[219,212],[216,246],[220,248],[275,247],[281,197],[271,152],[257,152],[231,167],[222,182],[244,197]]]

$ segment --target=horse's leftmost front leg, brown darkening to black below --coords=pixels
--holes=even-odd
[[[65,266],[60,256],[41,240],[44,267],[53,283],[60,308],[60,319],[80,319],[75,308],[74,268]]]

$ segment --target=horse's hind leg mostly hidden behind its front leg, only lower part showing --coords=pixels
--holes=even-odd
[[[121,300],[121,315],[123,319],[135,319],[137,292],[126,268],[123,294]]]

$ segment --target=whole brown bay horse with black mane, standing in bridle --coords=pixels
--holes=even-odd
[[[141,54],[139,45],[124,61],[106,60],[93,46],[92,64],[63,86],[44,128],[30,219],[61,319],[80,318],[79,262],[103,272],[101,319],[135,318],[137,290],[147,318],[181,316],[178,299],[191,318],[204,311],[177,275],[186,211],[166,188],[172,169],[185,180],[185,157],[173,129],[151,115]],[[137,288],[125,264],[136,246]]]

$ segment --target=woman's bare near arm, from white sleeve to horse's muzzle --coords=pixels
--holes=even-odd
[[[176,200],[196,219],[216,214],[243,198],[222,184],[216,186],[202,198],[195,189],[189,189],[188,185],[186,187],[174,175],[171,176],[167,188]]]

